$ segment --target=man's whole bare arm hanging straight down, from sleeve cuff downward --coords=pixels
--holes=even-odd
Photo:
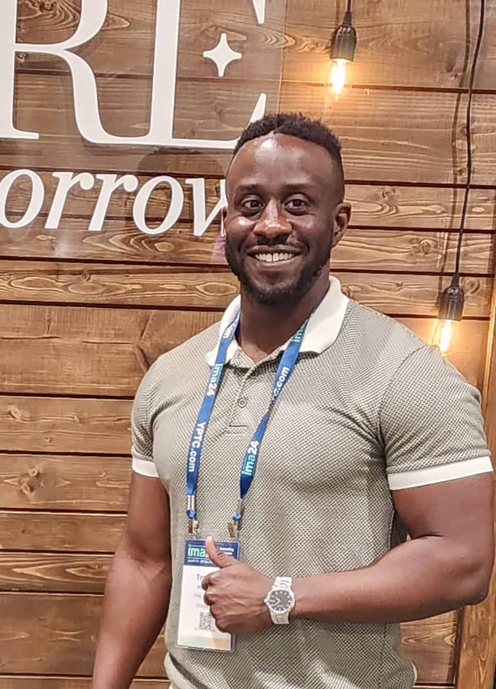
[[[127,521],[105,584],[92,689],[127,689],[165,622],[169,533],[161,481],[133,472]]]

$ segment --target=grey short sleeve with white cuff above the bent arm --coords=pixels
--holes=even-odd
[[[492,471],[479,391],[434,347],[411,353],[379,412],[391,491]]]

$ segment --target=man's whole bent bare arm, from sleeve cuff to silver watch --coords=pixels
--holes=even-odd
[[[493,474],[395,491],[411,541],[369,567],[293,580],[291,618],[399,622],[477,604],[494,557]]]

